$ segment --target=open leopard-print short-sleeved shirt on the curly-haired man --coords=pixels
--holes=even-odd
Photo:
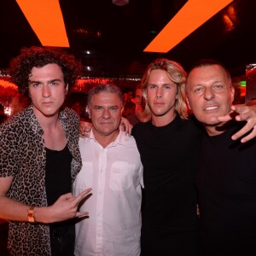
[[[73,183],[82,166],[79,116],[64,108],[59,117],[73,155]],[[0,177],[14,177],[8,196],[28,206],[47,206],[43,133],[32,105],[0,126]],[[8,247],[11,255],[50,255],[49,225],[10,222]]]

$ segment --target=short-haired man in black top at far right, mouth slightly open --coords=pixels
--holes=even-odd
[[[201,212],[201,255],[253,255],[256,251],[256,139],[236,139],[243,123],[220,121],[234,100],[230,73],[202,60],[186,83],[189,106],[205,127],[196,173]],[[231,119],[231,118],[230,118]],[[236,133],[236,135],[235,135]]]

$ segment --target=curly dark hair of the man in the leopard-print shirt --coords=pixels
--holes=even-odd
[[[20,49],[20,55],[10,61],[9,73],[12,82],[17,84],[19,92],[28,93],[28,80],[33,67],[44,67],[55,63],[61,67],[64,82],[71,90],[82,70],[79,61],[63,49],[53,47],[35,47]]]

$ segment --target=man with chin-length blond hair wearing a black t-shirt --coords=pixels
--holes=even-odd
[[[194,177],[202,131],[198,122],[188,119],[185,81],[183,67],[166,59],[150,63],[142,79],[152,114],[150,122],[132,130],[144,170],[142,255],[198,254]],[[255,124],[255,114],[250,120]],[[246,131],[251,127],[247,124]]]

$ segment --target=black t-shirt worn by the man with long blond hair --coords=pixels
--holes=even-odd
[[[166,232],[170,241],[174,231],[197,230],[195,161],[201,130],[177,116],[169,125],[138,123],[132,131],[143,162],[143,229]],[[142,234],[142,250],[154,245],[154,237],[147,237],[144,241]]]

